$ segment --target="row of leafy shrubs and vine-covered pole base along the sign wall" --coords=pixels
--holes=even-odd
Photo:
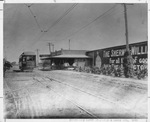
[[[126,63],[123,64],[124,67],[118,66],[115,67],[114,65],[109,65],[107,67],[102,66],[101,68],[98,67],[85,67],[82,69],[81,67],[76,67],[76,71],[79,72],[87,72],[87,73],[93,73],[93,74],[103,74],[108,76],[115,76],[115,77],[136,77],[138,79],[144,79],[148,76],[147,69],[143,70],[133,70],[133,62],[132,57],[127,57]]]

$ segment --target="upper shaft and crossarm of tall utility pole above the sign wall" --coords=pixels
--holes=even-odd
[[[133,5],[133,4],[123,3],[123,6],[124,6],[124,19],[125,19],[126,50],[129,51],[128,19],[127,19],[127,6],[126,5]]]

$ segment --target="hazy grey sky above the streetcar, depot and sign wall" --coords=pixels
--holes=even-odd
[[[127,5],[129,43],[147,41],[147,4]],[[96,50],[126,44],[124,7],[115,3],[4,4],[4,57],[24,51]]]

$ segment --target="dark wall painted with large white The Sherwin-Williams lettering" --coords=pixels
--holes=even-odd
[[[134,61],[134,69],[142,70],[147,68],[147,41],[130,44],[129,48]],[[104,67],[114,65],[117,68],[118,66],[123,67],[123,58],[125,51],[126,46],[122,45],[90,51],[87,52],[87,55],[93,58],[93,65],[96,67],[100,67],[101,64]],[[98,60],[98,57],[100,57],[101,60]]]

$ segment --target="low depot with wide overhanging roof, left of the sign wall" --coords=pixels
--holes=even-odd
[[[81,67],[89,65],[92,58],[86,55],[87,50],[64,50],[52,52],[51,55],[40,55],[41,62],[47,62],[56,66],[75,66]]]

